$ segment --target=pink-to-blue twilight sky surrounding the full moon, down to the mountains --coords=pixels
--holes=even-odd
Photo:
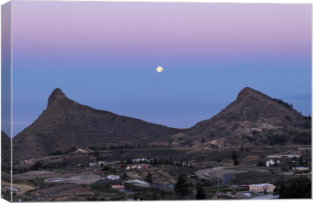
[[[14,1],[12,62],[13,136],[56,87],[170,127],[211,118],[246,86],[308,115],[311,5]]]

